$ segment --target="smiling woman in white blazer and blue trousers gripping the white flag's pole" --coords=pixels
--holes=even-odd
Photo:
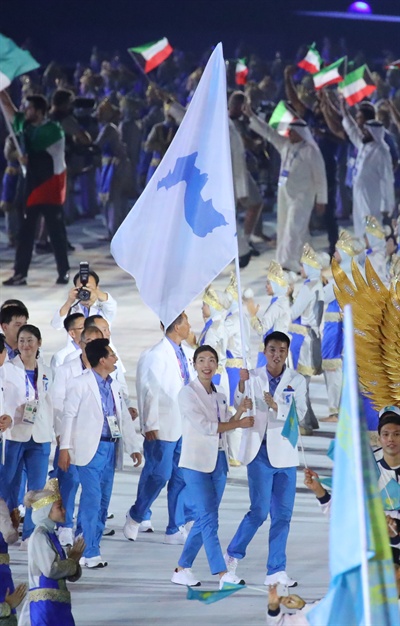
[[[252,408],[244,397],[236,414],[229,419],[228,403],[212,383],[218,367],[217,352],[208,345],[197,348],[193,357],[197,378],[184,387],[178,397],[182,415],[182,452],[179,466],[196,511],[195,522],[186,539],[183,552],[171,581],[197,587],[200,582],[191,567],[201,546],[212,574],[219,574],[219,586],[225,582],[244,584],[227,571],[218,539],[218,508],[228,473],[226,433],[237,428],[251,428],[254,418],[242,415]]]

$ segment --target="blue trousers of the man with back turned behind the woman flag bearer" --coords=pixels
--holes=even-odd
[[[144,440],[143,453],[146,462],[140,475],[136,502],[129,511],[135,522],[149,519],[151,505],[168,483],[167,535],[178,532],[179,527],[192,520],[194,515],[191,507],[185,503],[187,491],[182,469],[178,467],[181,441]]]

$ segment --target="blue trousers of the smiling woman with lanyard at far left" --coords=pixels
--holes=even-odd
[[[7,506],[12,511],[18,506],[18,495],[21,485],[22,469],[25,466],[27,474],[27,488],[43,489],[49,467],[50,442],[36,443],[29,441],[6,442],[6,464],[2,472],[2,493]],[[32,510],[26,509],[22,539],[27,539],[33,533],[35,525],[32,522]]]

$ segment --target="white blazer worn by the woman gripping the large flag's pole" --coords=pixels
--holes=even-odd
[[[229,422],[230,415],[225,394],[208,394],[197,378],[180,390],[179,408],[182,415],[182,450],[179,467],[210,473],[217,464],[221,422]],[[221,433],[221,444],[229,467],[226,433]]]

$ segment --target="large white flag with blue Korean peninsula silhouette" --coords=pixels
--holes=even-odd
[[[165,327],[235,257],[222,44],[163,160],[115,233],[111,253]]]

